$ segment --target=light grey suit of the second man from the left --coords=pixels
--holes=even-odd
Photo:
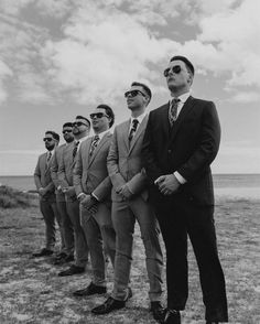
[[[58,187],[61,187],[61,181],[58,180],[58,175],[57,175],[58,165],[62,162],[63,150],[65,148],[66,148],[66,144],[62,144],[55,149],[52,161],[51,161],[51,176],[55,185],[55,193],[56,193],[56,204],[57,204],[58,218],[59,218],[58,225],[59,225],[61,237],[62,237],[61,252],[64,252],[67,256],[73,256],[74,255],[73,224],[67,213],[65,195],[61,190],[58,190]]]

